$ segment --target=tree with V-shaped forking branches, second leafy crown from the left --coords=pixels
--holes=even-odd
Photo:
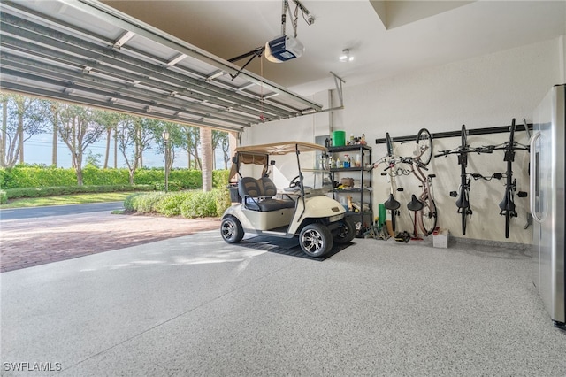
[[[96,142],[104,132],[98,120],[99,111],[72,104],[61,104],[59,112],[59,137],[71,151],[71,163],[77,173],[77,184],[82,186],[82,158],[87,147]]]

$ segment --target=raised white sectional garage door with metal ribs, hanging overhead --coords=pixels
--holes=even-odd
[[[321,111],[97,1],[3,0],[0,8],[3,90],[227,131]]]

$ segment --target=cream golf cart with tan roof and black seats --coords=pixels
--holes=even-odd
[[[326,196],[333,182],[325,156],[325,147],[308,142],[236,149],[230,181],[237,178],[231,195],[237,204],[222,216],[222,238],[228,243],[240,242],[245,232],[298,236],[302,251],[311,257],[324,256],[334,242],[352,241],[356,235],[354,221],[345,215],[346,209],[339,202]],[[277,167],[270,158],[277,158]],[[278,190],[274,181],[287,187]]]

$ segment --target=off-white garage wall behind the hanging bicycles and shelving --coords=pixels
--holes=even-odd
[[[523,118],[531,123],[532,112],[547,90],[564,80],[564,44],[561,37],[355,87],[345,84],[345,109],[333,112],[333,129],[343,129],[347,135],[364,133],[375,161],[385,155],[385,146],[376,145],[375,140],[385,137],[386,132],[395,138],[417,135],[422,127],[434,134],[460,130],[463,124],[468,129],[508,126],[512,118],[516,118],[518,124],[523,123]],[[317,94],[313,99],[328,106],[327,92]],[[329,134],[330,115],[325,112],[251,127],[242,136],[242,144],[288,140],[313,142],[314,136]],[[518,142],[528,142],[523,131],[517,137]],[[507,138],[507,134],[469,136],[468,142],[480,146],[504,142]],[[437,139],[434,150],[452,149],[458,144],[459,138]],[[395,144],[395,148],[402,149],[403,146]],[[401,154],[408,155],[403,151]],[[504,219],[499,215],[498,207],[504,182],[497,180],[471,182],[470,203],[474,214],[466,235],[462,235],[455,199],[448,196],[449,191],[458,188],[456,158],[433,158],[429,167],[431,173],[437,174],[434,194],[440,207],[440,227],[447,227],[451,235],[458,237],[532,242],[532,227],[524,230],[528,198],[516,197],[519,217],[511,225],[509,239],[505,239]],[[491,174],[504,172],[505,168],[500,152],[470,156],[468,171]],[[529,189],[527,169],[528,153],[518,151],[514,163],[517,190]],[[389,191],[386,178],[379,171],[375,171],[373,178],[375,210]],[[399,186],[405,190],[404,196],[397,197],[402,202],[402,230],[412,231],[405,205],[411,193],[419,192],[416,183],[411,176],[399,180]]]

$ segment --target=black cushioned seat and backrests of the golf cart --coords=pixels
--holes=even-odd
[[[268,177],[259,180],[253,177],[242,178],[238,181],[238,193],[244,207],[251,211],[269,212],[294,208],[294,200],[273,199],[272,196],[277,194],[277,187]]]

